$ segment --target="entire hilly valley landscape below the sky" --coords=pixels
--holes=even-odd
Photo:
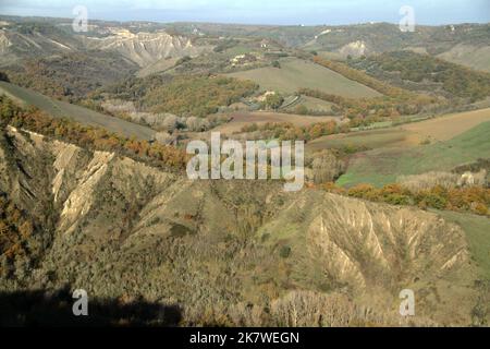
[[[0,325],[488,325],[489,24],[89,23],[0,15]],[[191,180],[213,132],[304,189]]]

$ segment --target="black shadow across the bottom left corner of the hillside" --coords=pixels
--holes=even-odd
[[[76,299],[68,290],[0,292],[0,327],[17,326],[177,326],[177,305],[88,298],[88,316],[72,312]]]

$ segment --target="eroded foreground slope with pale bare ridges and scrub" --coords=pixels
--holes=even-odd
[[[292,289],[338,291],[392,315],[400,290],[414,288],[426,294],[425,316],[468,321],[467,243],[434,214],[315,190],[283,193],[281,183],[193,182],[114,154],[8,133],[0,190],[32,215],[50,203],[54,228],[42,232],[52,242],[35,270],[2,288],[69,284],[97,297],[172,300],[188,314],[223,302],[264,304]],[[433,290],[440,302],[461,302],[460,312],[448,315]]]

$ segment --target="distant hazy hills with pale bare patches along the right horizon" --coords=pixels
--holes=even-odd
[[[266,37],[290,47],[332,52],[343,58],[413,49],[432,56],[457,57],[457,63],[483,69],[479,62],[490,57],[490,24],[418,25],[415,33],[402,33],[399,25],[389,23],[335,26],[175,23],[168,27],[185,34]],[[480,58],[471,55],[476,50]],[[478,60],[477,65],[475,60]]]

